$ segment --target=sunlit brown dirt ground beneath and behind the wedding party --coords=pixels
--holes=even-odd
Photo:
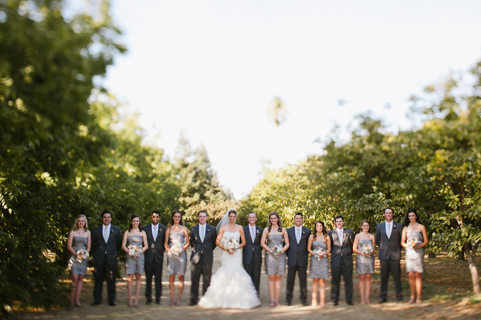
[[[214,250],[213,271],[220,266],[220,249]],[[190,256],[190,250],[187,252]],[[164,259],[164,272],[162,275],[162,304],[155,303],[146,305],[144,297],[145,278],[142,278],[142,288],[139,300],[139,306],[130,307],[127,305],[127,282],[126,276],[123,274],[123,280],[117,280],[117,306],[110,306],[106,301],[107,292],[104,284],[104,293],[102,304],[91,306],[93,301],[93,280],[92,273],[89,270],[87,280],[84,282],[82,290],[81,303],[82,307],[72,307],[68,310],[52,310],[48,312],[15,312],[14,317],[18,319],[192,319],[192,320],[209,320],[216,319],[250,319],[250,320],[266,320],[266,319],[312,319],[319,317],[329,317],[341,320],[361,319],[481,319],[481,303],[470,303],[466,297],[466,292],[470,289],[469,272],[466,266],[461,265],[454,259],[438,258],[427,259],[426,279],[423,284],[423,299],[420,304],[408,304],[409,300],[409,284],[407,283],[407,275],[403,273],[404,302],[388,302],[378,304],[379,299],[379,263],[376,263],[376,273],[372,279],[371,304],[360,304],[358,278],[354,271],[354,302],[350,306],[342,297],[344,290],[341,289],[341,301],[339,305],[333,306],[330,303],[330,279],[326,281],[326,306],[311,307],[302,306],[299,299],[299,281],[296,279],[294,291],[293,305],[291,306],[269,306],[269,293],[267,289],[268,277],[264,273],[261,274],[261,292],[260,299],[262,305],[251,310],[237,309],[204,309],[199,306],[188,306],[190,291],[190,262],[187,262],[187,272],[185,274],[185,287],[182,295],[182,306],[169,306],[170,295],[168,289],[167,275],[167,259]],[[403,265],[402,265],[403,267]],[[285,301],[286,290],[286,274],[283,275],[281,303]],[[312,281],[308,278],[308,301],[310,301]],[[343,287],[341,283],[341,287]],[[472,287],[472,286],[471,286]],[[135,288],[134,288],[135,290]],[[394,286],[392,281],[389,283],[388,301],[395,301]]]

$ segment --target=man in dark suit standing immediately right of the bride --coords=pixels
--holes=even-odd
[[[251,276],[252,282],[254,282],[254,286],[257,290],[257,295],[259,295],[262,266],[261,237],[264,229],[256,225],[256,212],[249,212],[247,219],[249,220],[249,224],[244,227],[246,245],[242,249],[242,263],[244,264],[244,269]]]

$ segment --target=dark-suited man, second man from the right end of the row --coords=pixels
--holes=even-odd
[[[352,305],[352,245],[354,234],[351,229],[344,228],[344,218],[334,218],[336,228],[328,232],[331,238],[331,299],[333,305],[339,304],[341,275],[344,279],[346,302]]]

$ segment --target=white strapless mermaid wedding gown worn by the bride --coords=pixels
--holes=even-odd
[[[230,238],[239,241],[240,232],[224,232],[222,238],[224,243]],[[200,298],[199,305],[214,309],[252,309],[260,304],[251,276],[242,267],[240,249],[233,254],[222,251],[220,268],[212,275],[207,292]]]

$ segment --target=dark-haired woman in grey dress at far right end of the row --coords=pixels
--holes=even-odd
[[[424,272],[424,246],[428,242],[426,228],[421,224],[421,220],[419,220],[414,209],[407,210],[404,225],[401,245],[406,248],[406,272],[409,274],[409,286],[411,288],[409,303],[420,303],[422,301],[421,273]],[[412,243],[410,243],[411,241]]]

